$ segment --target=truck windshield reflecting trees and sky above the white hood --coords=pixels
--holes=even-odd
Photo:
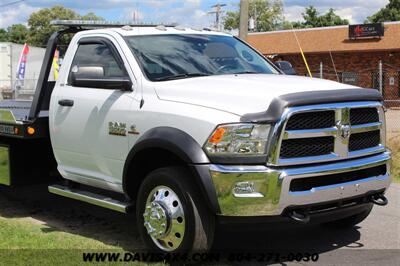
[[[264,57],[231,36],[171,34],[126,39],[151,81],[224,74],[279,74]]]

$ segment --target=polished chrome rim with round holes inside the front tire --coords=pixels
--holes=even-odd
[[[185,213],[171,188],[158,186],[149,193],[143,218],[147,233],[161,250],[179,248],[185,234]]]

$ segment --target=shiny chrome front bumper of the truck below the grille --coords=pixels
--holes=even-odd
[[[386,174],[311,190],[291,192],[294,179],[368,169],[386,164]],[[390,152],[324,165],[269,168],[211,165],[210,172],[223,216],[282,215],[287,207],[306,206],[385,190],[390,185]]]

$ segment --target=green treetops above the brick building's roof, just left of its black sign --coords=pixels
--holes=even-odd
[[[309,6],[306,7],[302,16],[304,21],[292,22],[293,28],[316,28],[349,24],[349,21],[337,15],[333,8],[330,8],[325,14],[320,15],[315,7]]]

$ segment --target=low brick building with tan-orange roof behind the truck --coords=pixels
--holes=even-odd
[[[296,35],[313,76],[381,88],[387,106],[400,106],[400,22],[385,23],[384,31],[380,38],[350,39],[349,26],[337,26],[296,30]],[[250,33],[247,41],[274,60],[291,62],[299,75],[307,74],[293,31]]]

